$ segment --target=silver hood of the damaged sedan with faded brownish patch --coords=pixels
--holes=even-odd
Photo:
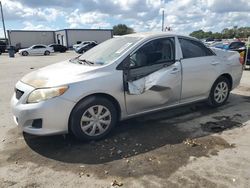
[[[56,63],[25,75],[21,82],[34,88],[55,87],[82,81],[90,77],[100,66],[74,64],[69,61]]]

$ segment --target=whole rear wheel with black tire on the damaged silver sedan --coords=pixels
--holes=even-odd
[[[231,91],[231,84],[229,80],[222,76],[218,78],[210,91],[210,95],[208,98],[208,104],[212,107],[218,107],[227,102]]]

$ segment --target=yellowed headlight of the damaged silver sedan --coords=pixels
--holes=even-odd
[[[40,101],[60,96],[67,91],[67,89],[68,86],[36,89],[30,93],[27,103],[38,103]]]

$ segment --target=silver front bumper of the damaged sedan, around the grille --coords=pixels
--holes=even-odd
[[[23,91],[20,99],[14,94],[11,108],[14,120],[27,133],[34,135],[55,135],[68,132],[68,121],[75,103],[62,97],[55,97],[39,103],[27,104],[29,94],[35,89],[27,84],[18,82],[18,90]],[[41,128],[33,126],[37,119],[42,120]]]

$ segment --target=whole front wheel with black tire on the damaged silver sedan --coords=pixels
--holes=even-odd
[[[75,106],[70,115],[69,128],[79,140],[99,140],[112,130],[116,122],[114,104],[106,98],[91,96]]]

